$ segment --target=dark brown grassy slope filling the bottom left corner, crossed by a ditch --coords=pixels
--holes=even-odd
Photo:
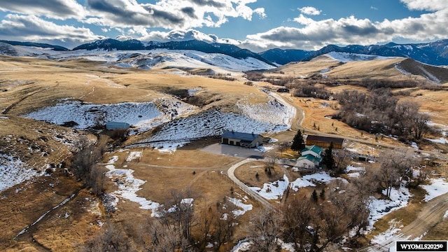
[[[82,211],[80,209],[79,201],[83,201],[86,197],[85,193],[80,193],[76,199],[66,204],[65,207],[58,209],[55,213],[50,213],[50,218],[43,218],[39,223],[39,228],[30,229],[25,235],[18,237],[17,241],[13,240],[13,237],[26,228],[31,223],[34,223],[40,216],[45,214],[46,211],[52,209],[57,204],[65,200],[76,190],[79,190],[80,184],[73,181],[73,178],[62,175],[62,170],[55,172],[52,176],[37,177],[27,183],[26,185],[20,184],[12,188],[8,188],[1,192],[0,197],[0,250],[4,251],[7,248],[11,251],[17,251],[24,246],[35,246],[31,243],[31,235],[36,238],[47,237],[43,235],[46,232],[52,232],[53,235],[59,237],[59,243],[53,243],[53,241],[45,241],[44,243],[48,247],[57,248],[71,248],[73,244],[67,245],[72,241],[85,238],[88,234],[88,225],[84,225],[83,230],[85,232],[76,233],[76,225],[73,221],[74,218],[79,218],[78,213]],[[78,201],[78,202],[76,202]],[[88,207],[88,206],[87,206]],[[73,214],[69,218],[59,218],[58,214],[65,215],[65,212]],[[85,216],[84,218],[88,218]],[[96,218],[96,217],[94,217]],[[93,218],[93,220],[94,220]],[[92,221],[92,218],[90,218]],[[78,221],[79,222],[79,221]],[[69,223],[69,224],[67,224]],[[41,228],[41,227],[47,227]],[[73,225],[73,226],[72,226]],[[50,228],[52,227],[52,228]],[[60,235],[52,230],[65,229],[64,235]],[[43,239],[45,240],[45,239]],[[43,241],[42,240],[42,241]],[[64,241],[64,242],[62,242]],[[64,250],[64,249],[63,249]]]

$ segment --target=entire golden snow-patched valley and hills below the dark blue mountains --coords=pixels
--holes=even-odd
[[[1,251],[244,251],[266,245],[265,219],[281,251],[446,239],[448,69],[345,52],[275,67],[193,50],[15,49],[0,56]],[[226,146],[226,131],[265,141]],[[344,139],[335,167],[297,167],[297,132]],[[306,224],[290,225],[297,216]]]

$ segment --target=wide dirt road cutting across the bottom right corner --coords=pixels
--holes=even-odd
[[[430,200],[420,211],[419,216],[409,225],[405,226],[393,237],[381,244],[375,244],[363,251],[388,251],[395,246],[397,240],[413,240],[422,237],[428,230],[434,228],[437,223],[443,221],[444,214],[448,211],[448,193]]]

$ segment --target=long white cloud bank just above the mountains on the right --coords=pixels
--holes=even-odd
[[[409,8],[428,8],[426,1],[402,0]],[[447,3],[448,0],[442,2]],[[428,41],[446,38],[448,34],[448,3],[445,6],[432,1],[435,6],[442,8],[432,13],[422,14],[416,18],[400,20],[383,20],[372,22],[368,19],[348,18],[314,20],[300,14],[294,21],[303,27],[276,27],[258,34],[246,36],[242,43],[251,50],[265,50],[267,48],[301,48],[317,50],[329,44],[369,45],[405,38],[411,41]]]

